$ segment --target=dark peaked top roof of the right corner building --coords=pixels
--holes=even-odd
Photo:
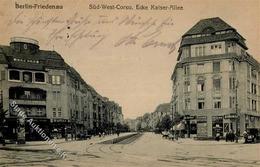
[[[211,28],[211,29],[207,29]],[[223,31],[223,30],[235,30],[225,21],[219,17],[207,18],[200,20],[195,24],[189,31],[187,31],[183,36],[200,34],[203,31],[212,30],[212,31]]]

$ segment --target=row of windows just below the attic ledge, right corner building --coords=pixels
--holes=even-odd
[[[221,63],[220,61],[216,61],[212,63],[212,69],[213,69],[213,73],[219,73],[220,72],[220,68],[221,67]],[[233,61],[229,61],[229,71],[235,71],[235,64]],[[203,73],[204,71],[204,63],[198,63],[197,64],[197,73]],[[184,66],[184,75],[190,75],[190,65],[185,65]]]

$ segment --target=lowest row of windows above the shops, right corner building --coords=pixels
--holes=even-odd
[[[185,99],[185,110],[190,110],[191,109],[191,101],[190,98]],[[248,104],[248,110],[256,111],[257,110],[257,101],[256,100],[251,100],[250,98],[247,101]],[[204,98],[198,98],[198,109],[203,110],[205,109],[205,99]],[[236,98],[230,96],[229,97],[229,108],[235,108],[236,106]],[[252,108],[251,108],[252,107]],[[221,109],[221,99],[213,99],[213,108],[214,109]]]

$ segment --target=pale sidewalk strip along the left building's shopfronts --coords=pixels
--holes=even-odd
[[[122,133],[119,137],[129,135],[131,133]],[[82,144],[87,145],[93,145],[97,143],[104,142],[106,140],[112,140],[116,139],[117,135],[107,135],[105,137],[98,137],[94,136],[91,139],[88,140],[68,140],[65,141],[65,139],[54,139],[52,140],[58,147],[60,148],[75,148],[75,146]],[[0,145],[0,150],[12,150],[12,151],[34,151],[34,152],[40,152],[40,151],[54,151],[54,149],[51,147],[51,145],[48,144],[46,141],[30,141],[26,142],[26,144],[7,144],[6,146]]]

